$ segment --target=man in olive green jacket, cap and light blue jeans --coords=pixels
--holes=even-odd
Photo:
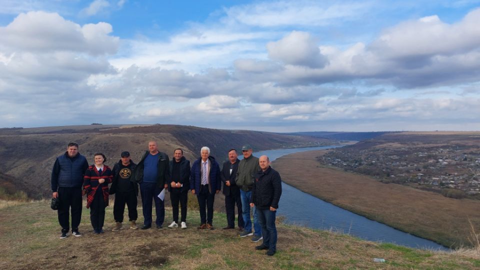
[[[243,231],[240,233],[240,237],[250,236],[252,242],[258,242],[262,239],[260,223],[258,223],[258,217],[256,209],[253,207],[253,228],[251,230],[251,218],[250,218],[250,198],[251,189],[253,186],[254,174],[260,170],[258,164],[258,158],[252,155],[253,149],[249,144],[245,144],[241,147],[243,159],[238,163],[238,170],[236,171],[235,182],[240,187],[240,198],[243,222],[245,223]]]

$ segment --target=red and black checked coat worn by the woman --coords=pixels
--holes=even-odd
[[[93,198],[95,197],[95,192],[97,190],[103,192],[103,200],[105,201],[105,207],[108,205],[108,184],[111,183],[113,173],[107,165],[103,165],[101,173],[98,173],[95,165],[90,165],[85,170],[85,175],[83,176],[83,189],[86,190],[86,207],[89,208]],[[98,179],[103,178],[105,181],[101,184],[98,183]]]

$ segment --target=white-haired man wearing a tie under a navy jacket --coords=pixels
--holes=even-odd
[[[201,223],[198,229],[213,229],[213,201],[220,188],[220,166],[215,158],[210,156],[210,148],[203,146],[200,149],[200,158],[193,162],[190,172],[191,193],[196,194],[200,208]]]

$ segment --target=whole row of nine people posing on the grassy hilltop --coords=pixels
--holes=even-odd
[[[58,221],[60,238],[68,236],[69,211],[71,209],[71,234],[81,236],[80,224],[82,195],[87,195],[86,207],[90,208],[90,221],[95,234],[103,233],[105,207],[109,194],[115,194],[112,231],[122,229],[125,204],[128,208],[129,225],[137,229],[136,210],[138,185],[142,201],[143,226],[152,226],[152,202],[155,203],[155,225],[161,228],[165,217],[164,195],[168,190],[172,206],[173,221],[169,228],[186,229],[188,192],[196,195],[200,212],[198,229],[214,229],[213,202],[215,194],[222,190],[225,195],[227,226],[235,228],[235,205],[240,237],[252,236],[251,241],[262,243],[257,250],[266,249],[267,255],[276,252],[277,232],[276,209],[281,195],[281,179],[277,171],[269,166],[266,155],[252,155],[248,144],[241,148],[243,159],[239,160],[235,149],[228,150],[228,160],[220,170],[218,162],[210,155],[210,149],[201,147],[200,157],[190,167],[190,161],[177,148],[173,158],[157,148],[155,141],[148,142],[148,150],[138,164],[130,159],[128,151],[121,152],[121,159],[110,169],[103,153],[94,154],[94,164],[88,165],[86,158],[78,152],[78,144],[71,142],[64,154],[58,156],[51,173],[52,196],[59,198]],[[108,184],[111,185],[109,186]],[[180,210],[180,222],[178,212]],[[253,226],[250,218],[253,212]]]

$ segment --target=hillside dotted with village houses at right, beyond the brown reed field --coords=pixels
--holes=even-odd
[[[332,149],[319,161],[385,183],[480,199],[480,132],[383,134]]]

